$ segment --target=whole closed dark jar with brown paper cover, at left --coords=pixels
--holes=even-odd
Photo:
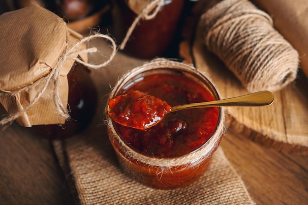
[[[87,54],[78,54],[86,49],[85,44],[76,44],[82,35],[39,5],[0,18],[0,36],[6,39],[0,50],[0,103],[7,112],[0,116],[1,124],[15,120],[48,138],[82,131],[97,103],[90,71],[75,60],[88,59]],[[25,18],[28,21],[23,21]],[[16,27],[19,32],[12,29]]]

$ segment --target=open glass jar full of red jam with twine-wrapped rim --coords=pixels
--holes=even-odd
[[[154,60],[132,70],[117,83],[110,99],[132,90],[170,106],[219,99],[201,72],[169,60]],[[131,108],[128,112],[147,105]],[[175,189],[196,181],[208,169],[223,134],[224,111],[213,107],[172,112],[145,130],[118,124],[108,115],[107,119],[108,135],[124,172],[147,186]]]

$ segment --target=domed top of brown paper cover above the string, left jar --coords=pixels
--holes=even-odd
[[[66,46],[66,24],[34,5],[0,16],[0,89],[32,84],[55,66]]]

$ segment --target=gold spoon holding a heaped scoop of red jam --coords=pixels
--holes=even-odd
[[[139,91],[140,92],[140,91]],[[141,93],[141,94],[140,94]],[[132,113],[130,108],[129,110],[129,117],[128,115],[125,116],[125,114],[117,115],[113,111],[110,110],[110,107],[108,105],[107,112],[110,117],[112,117],[117,123],[120,123],[124,126],[132,127],[135,129],[145,130],[150,127],[153,127],[155,124],[157,124],[159,121],[163,119],[163,117],[171,112],[176,112],[180,110],[185,109],[193,109],[193,108],[207,108],[207,107],[220,107],[220,106],[265,106],[270,105],[274,101],[274,95],[272,92],[264,90],[259,92],[254,92],[238,97],[223,99],[223,100],[215,100],[215,101],[208,101],[208,102],[200,102],[200,103],[190,103],[185,105],[178,105],[178,106],[169,106],[166,104],[165,101],[162,101],[158,98],[155,98],[151,95],[146,95],[142,92],[138,93],[142,97],[145,97],[144,99],[147,99],[148,97],[151,97],[154,100],[157,100],[160,103],[160,105],[157,107],[157,105],[148,105],[150,108],[155,108],[156,110],[160,110],[160,113],[157,115],[157,112],[154,110],[153,115],[150,113],[149,110],[146,109],[146,113],[143,113],[143,109],[139,109],[137,113]],[[124,97],[121,96],[121,97]],[[110,101],[109,101],[110,103]],[[167,107],[166,107],[167,105]],[[162,111],[162,112],[161,112]],[[137,117],[133,117],[134,114],[138,114]],[[122,119],[125,120],[122,120]],[[127,120],[126,120],[127,119]],[[148,121],[145,123],[145,121],[142,121],[143,119],[147,119]]]

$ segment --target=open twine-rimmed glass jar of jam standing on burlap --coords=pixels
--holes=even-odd
[[[139,88],[144,88],[145,90],[141,90],[143,92],[150,93],[151,95],[154,93],[152,90],[146,90],[150,87],[147,86],[148,82],[145,80],[150,78],[152,83],[154,82],[154,78],[152,76],[157,76],[159,78],[160,75],[169,75],[174,76],[175,79],[188,79],[188,81],[194,82],[198,84],[198,89],[202,90],[192,90],[190,93],[182,93],[182,88],[179,88],[179,84],[174,84],[174,88],[169,90],[169,86],[167,86],[164,90],[161,90],[161,93],[168,93],[169,95],[166,97],[167,103],[170,103],[169,99],[174,99],[174,101],[170,104],[171,106],[175,106],[174,103],[182,103],[184,98],[194,98],[194,93],[208,93],[207,95],[213,100],[218,100],[219,95],[216,91],[216,88],[213,86],[211,81],[207,79],[201,72],[196,70],[195,68],[186,65],[184,63],[179,62],[171,62],[171,61],[164,61],[163,63],[158,63],[157,61],[150,62],[145,64],[144,66],[138,67],[132,70],[130,73],[123,76],[122,80],[120,80],[115,88],[113,89],[110,98],[112,99],[117,95],[125,94],[130,89],[135,89],[134,85],[139,84]],[[186,81],[186,80],[185,80]],[[166,81],[165,81],[166,82]],[[151,83],[150,83],[151,84]],[[181,84],[181,83],[180,83]],[[183,85],[183,84],[181,84]],[[179,92],[174,90],[180,90]],[[180,94],[180,96],[178,95]],[[184,94],[184,95],[182,95]],[[158,94],[159,95],[159,94]],[[164,95],[161,95],[164,96]],[[159,96],[159,97],[161,97]],[[185,97],[183,97],[185,96]],[[155,96],[157,97],[157,96]],[[195,98],[195,99],[198,99]],[[169,101],[169,102],[168,102]],[[185,101],[185,99],[184,99]],[[173,120],[173,117],[169,117],[170,126],[177,124],[176,129],[174,132],[182,132],[182,134],[178,135],[177,138],[179,139],[180,144],[173,144],[171,146],[176,147],[178,146],[178,151],[173,152],[170,154],[168,151],[162,152],[163,154],[155,153],[155,151],[149,148],[141,149],[140,147],[134,146],[134,140],[136,139],[136,133],[141,136],[138,139],[137,144],[144,143],[143,140],[146,140],[146,136],[153,132],[154,135],[147,143],[154,145],[154,141],[158,136],[158,144],[155,144],[157,149],[164,149],[165,146],[159,146],[159,143],[165,144],[168,142],[168,139],[172,139],[174,142],[177,140],[173,134],[168,133],[165,134],[164,126],[160,126],[160,123],[166,122],[159,122],[152,128],[146,129],[144,131],[133,131],[129,130],[126,134],[123,134],[122,129],[133,129],[133,128],[125,128],[122,125],[117,124],[114,122],[108,115],[108,135],[110,142],[116,151],[120,166],[124,170],[124,172],[132,177],[133,179],[154,188],[159,189],[175,189],[186,186],[191,184],[192,182],[196,181],[200,176],[203,176],[205,171],[208,169],[213,152],[216,150],[219,142],[221,140],[221,136],[224,130],[224,110],[223,108],[215,108],[211,110],[212,113],[208,118],[214,119],[214,124],[209,125],[210,123],[207,119],[207,116],[204,114],[210,110],[205,109],[190,109],[186,111],[180,111],[182,114],[178,115],[177,117],[182,117],[181,120]],[[179,112],[179,111],[178,111]],[[173,114],[173,113],[171,113]],[[166,117],[168,115],[167,114]],[[175,114],[177,115],[177,114]],[[180,126],[178,121],[185,121],[187,120],[188,123],[182,123]],[[189,121],[190,120],[190,121]],[[212,120],[213,122],[213,120]],[[194,127],[192,123],[197,123]],[[184,126],[190,126],[184,127]],[[157,126],[157,127],[156,127]],[[169,126],[169,124],[167,125]],[[202,139],[202,136],[205,134],[205,130],[203,129],[206,126],[211,127],[208,139]],[[155,128],[156,127],[156,128]],[[162,127],[162,128],[161,128]],[[158,130],[153,131],[151,129]],[[187,132],[186,129],[187,128]],[[189,131],[190,129],[190,131]],[[142,133],[143,132],[143,133]],[[144,135],[143,135],[144,134]],[[127,136],[123,136],[127,135]],[[164,136],[168,135],[169,138],[164,138]],[[161,137],[162,136],[162,137]],[[171,136],[171,138],[170,138]],[[179,137],[180,136],[180,137]],[[192,137],[195,136],[195,137]],[[128,142],[126,139],[132,138],[132,142]],[[145,137],[145,138],[143,138]],[[124,140],[125,139],[125,140]],[[167,140],[166,140],[167,139]],[[201,139],[201,141],[200,141]],[[170,141],[169,141],[170,142]],[[201,144],[200,144],[201,142]],[[196,143],[199,143],[196,145]],[[173,149],[173,148],[172,148]],[[179,151],[180,150],[180,151]],[[183,152],[184,150],[184,152]]]

